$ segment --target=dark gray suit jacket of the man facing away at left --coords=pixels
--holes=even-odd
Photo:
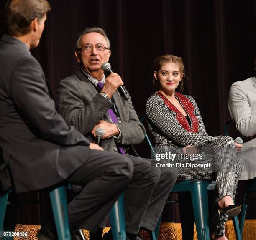
[[[3,36],[0,66],[1,169],[10,166],[17,192],[61,182],[90,156],[89,147],[78,146],[90,142],[57,113],[42,68],[23,42]],[[77,152],[81,157],[70,157]]]

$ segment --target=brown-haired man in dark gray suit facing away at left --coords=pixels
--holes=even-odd
[[[46,0],[12,0],[5,11],[8,35],[0,40],[1,179],[10,168],[16,192],[51,187],[67,180],[82,185],[69,203],[72,239],[75,230],[97,232],[133,174],[128,157],[105,152],[90,143],[56,112],[50,88],[30,49],[44,30]],[[2,174],[3,173],[3,174]],[[6,189],[5,189],[6,190]],[[57,239],[53,224],[39,240]]]

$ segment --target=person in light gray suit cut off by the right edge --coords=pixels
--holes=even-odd
[[[256,57],[255,57],[256,72]],[[240,180],[256,177],[256,77],[232,84],[228,97],[228,109],[236,129],[251,141],[243,143],[241,159],[244,162]]]

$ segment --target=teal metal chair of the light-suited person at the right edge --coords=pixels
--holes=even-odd
[[[226,136],[228,136],[227,126],[230,125],[231,123],[232,123],[232,121],[229,120],[223,125],[223,131]],[[233,224],[234,224],[234,226],[236,225],[236,227],[235,227],[236,239],[238,239],[238,240],[240,240],[241,236],[243,235],[243,227],[244,227],[244,222],[245,222],[245,217],[246,217],[248,201],[256,200],[254,198],[251,198],[251,199],[248,198],[249,192],[256,192],[256,179],[255,178],[246,180],[246,189],[243,194],[243,199],[242,199],[242,204],[241,204],[242,208],[241,208],[241,212],[240,212],[240,216],[239,216],[239,219],[240,219],[239,224],[238,224],[238,217],[233,218]],[[238,227],[239,227],[239,232],[237,231]]]

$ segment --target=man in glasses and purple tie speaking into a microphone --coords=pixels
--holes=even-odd
[[[61,81],[58,89],[59,113],[95,141],[98,127],[105,130],[102,147],[125,154],[134,164],[133,178],[125,191],[127,236],[139,239],[140,227],[153,231],[177,177],[156,172],[151,160],[135,157],[132,144],[143,141],[145,129],[139,122],[130,97],[117,91],[123,81],[116,73],[104,76],[102,63],[110,57],[110,42],[102,28],[87,28],[77,40],[75,56],[80,68]]]

